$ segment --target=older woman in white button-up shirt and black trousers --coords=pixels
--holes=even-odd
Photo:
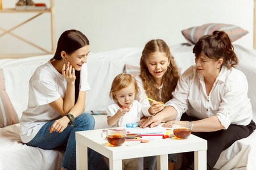
[[[170,127],[172,120],[181,116],[181,120],[192,121],[192,134],[207,140],[207,169],[212,169],[221,152],[248,137],[255,123],[246,76],[234,68],[238,58],[229,36],[222,31],[203,36],[193,53],[196,65],[181,75],[167,107],[141,127],[154,127],[160,122],[167,122],[163,126]],[[193,169],[193,153],[185,153],[185,157],[188,166],[182,169]]]

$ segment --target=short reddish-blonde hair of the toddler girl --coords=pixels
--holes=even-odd
[[[121,73],[115,76],[112,82],[111,89],[109,92],[110,99],[113,99],[115,103],[118,103],[117,97],[115,97],[114,95],[115,91],[121,90],[122,88],[126,88],[131,83],[133,83],[135,87],[135,97],[138,97],[139,87],[137,85],[135,78],[130,74]]]

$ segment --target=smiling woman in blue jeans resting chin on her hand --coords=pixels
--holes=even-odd
[[[30,79],[28,108],[20,118],[20,137],[28,146],[61,147],[61,169],[76,169],[75,132],[92,130],[94,118],[85,109],[89,40],[77,30],[62,33],[55,56]],[[88,150],[89,169],[108,169],[102,155]],[[40,168],[40,167],[39,167]]]

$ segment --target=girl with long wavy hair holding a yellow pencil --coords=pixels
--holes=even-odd
[[[159,39],[148,41],[144,46],[140,65],[141,74],[136,77],[140,90],[138,100],[144,116],[148,117],[162,111],[163,103],[172,99],[179,71],[169,46]],[[151,102],[145,97],[155,101]],[[144,169],[154,169],[155,162],[156,156],[144,158]],[[169,155],[169,162],[176,163],[177,154]]]

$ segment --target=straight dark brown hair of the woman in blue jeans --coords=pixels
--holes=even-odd
[[[67,54],[72,54],[75,50],[82,48],[85,45],[89,45],[87,37],[75,29],[65,31],[61,34],[57,44],[57,49],[53,59],[60,60],[61,52],[64,51]],[[79,97],[79,86],[80,86],[80,71],[75,71],[75,103]]]

